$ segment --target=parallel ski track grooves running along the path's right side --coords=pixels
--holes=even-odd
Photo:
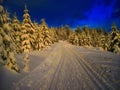
[[[97,90],[114,90],[114,88],[105,81],[91,66],[80,56],[80,52],[73,50],[76,55],[76,60],[84,68],[85,72],[90,77],[91,81],[97,86]]]

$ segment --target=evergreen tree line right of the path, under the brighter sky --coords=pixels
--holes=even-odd
[[[107,32],[102,28],[91,28],[83,26],[72,30],[68,25],[57,30],[58,38],[67,40],[76,46],[98,47],[105,51],[120,53],[120,30],[115,23],[111,26],[111,31]]]

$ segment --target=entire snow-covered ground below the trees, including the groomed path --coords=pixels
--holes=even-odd
[[[16,55],[23,68],[23,55]],[[59,41],[30,53],[30,72],[0,67],[0,90],[119,90],[120,55]]]

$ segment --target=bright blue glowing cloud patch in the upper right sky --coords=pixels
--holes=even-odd
[[[85,18],[76,20],[76,23],[89,27],[107,27],[114,21],[115,5],[116,0],[96,0],[90,9],[84,11]]]

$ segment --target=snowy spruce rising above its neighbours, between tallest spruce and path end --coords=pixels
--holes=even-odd
[[[45,22],[45,19],[41,19],[41,25],[40,25],[40,29],[41,31],[43,31],[43,35],[44,35],[44,45],[45,47],[48,47],[51,45],[51,36],[50,36],[50,32],[49,32],[49,28],[47,23]]]

